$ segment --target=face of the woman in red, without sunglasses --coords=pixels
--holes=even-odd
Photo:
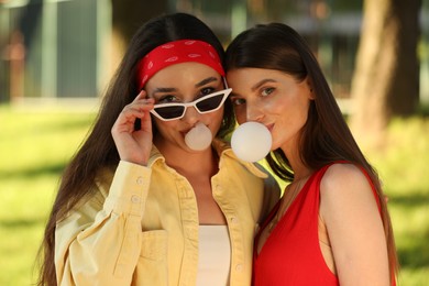
[[[307,79],[297,81],[274,69],[238,68],[228,72],[227,81],[240,124],[263,123],[272,133],[272,150],[295,147],[312,100]]]

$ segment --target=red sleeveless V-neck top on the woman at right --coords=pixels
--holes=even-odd
[[[254,254],[253,285],[339,285],[337,275],[324,262],[318,234],[320,180],[329,166],[311,175],[260,254]],[[276,213],[278,205],[263,228]],[[258,237],[255,243],[257,240]]]

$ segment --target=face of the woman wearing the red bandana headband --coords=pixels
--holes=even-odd
[[[182,63],[168,66],[156,73],[146,84],[147,97],[158,103],[185,103],[224,89],[221,76],[211,67],[199,63]],[[223,106],[212,112],[199,113],[195,107],[188,107],[180,119],[163,121],[156,117],[158,133],[154,138],[156,146],[189,147],[185,135],[198,122],[207,125],[215,135],[219,131],[223,118]]]

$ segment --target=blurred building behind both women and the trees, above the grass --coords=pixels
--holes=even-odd
[[[164,2],[165,12],[201,18],[226,45],[255,23],[294,26],[312,46],[336,96],[349,97],[362,0]],[[420,20],[420,97],[429,101],[429,0]],[[0,102],[99,98],[118,64],[111,29],[111,0],[0,0]]]

